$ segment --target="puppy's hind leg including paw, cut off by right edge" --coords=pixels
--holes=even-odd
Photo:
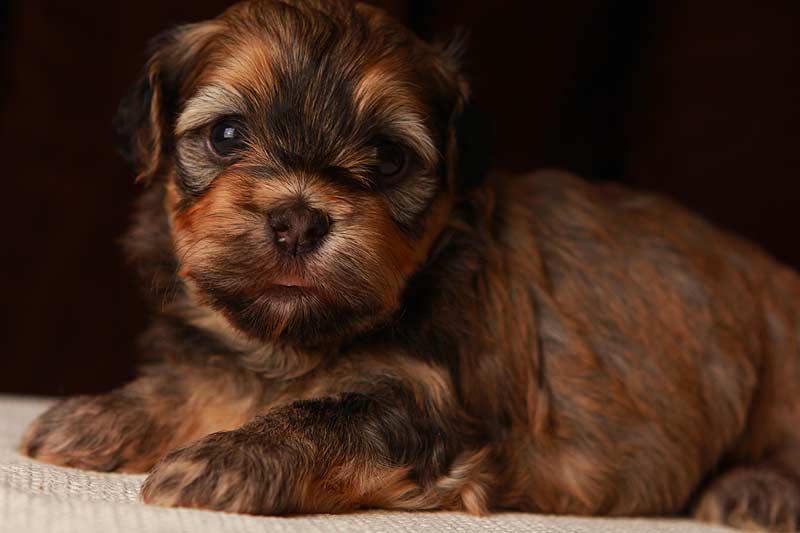
[[[706,490],[694,509],[702,520],[750,531],[800,530],[800,279],[781,270],[764,295],[769,357],[748,427],[732,450],[735,466]]]

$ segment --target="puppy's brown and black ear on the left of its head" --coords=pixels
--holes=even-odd
[[[151,42],[150,59],[114,118],[117,149],[137,181],[159,177],[172,157],[175,119],[218,30],[214,21],[187,24]]]

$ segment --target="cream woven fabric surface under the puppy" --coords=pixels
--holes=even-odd
[[[504,513],[364,512],[291,518],[240,516],[143,505],[144,476],[98,474],[36,463],[16,452],[25,426],[49,402],[0,396],[0,533],[436,532],[711,533],[731,531],[686,520],[613,520]]]

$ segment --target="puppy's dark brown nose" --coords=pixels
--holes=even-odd
[[[273,209],[267,213],[267,219],[275,245],[292,256],[314,250],[330,229],[328,215],[303,204]]]

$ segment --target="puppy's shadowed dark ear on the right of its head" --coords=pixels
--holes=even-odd
[[[458,31],[448,41],[434,43],[438,52],[434,70],[444,124],[445,175],[451,190],[481,183],[489,161],[488,121],[472,102],[469,83],[462,73],[467,39],[467,32]]]

